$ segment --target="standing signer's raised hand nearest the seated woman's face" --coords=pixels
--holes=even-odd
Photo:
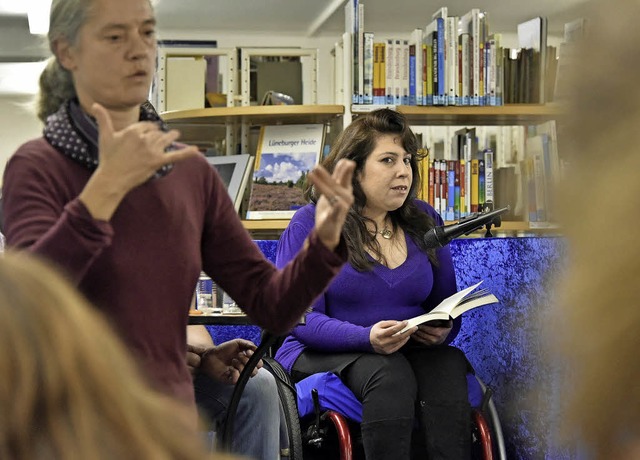
[[[355,162],[342,159],[331,175],[322,166],[316,166],[308,175],[320,196],[316,205],[316,233],[331,250],[340,243],[342,226],[353,204],[351,180],[355,167]]]

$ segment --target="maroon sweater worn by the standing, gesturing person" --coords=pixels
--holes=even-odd
[[[94,220],[77,198],[90,176],[42,138],[21,146],[5,169],[7,243],[61,266],[113,321],[152,381],[184,401],[193,402],[186,326],[201,269],[255,324],[283,333],[346,261],[343,244],[334,253],[312,235],[308,249],[278,271],[202,157],[129,192],[109,222]]]

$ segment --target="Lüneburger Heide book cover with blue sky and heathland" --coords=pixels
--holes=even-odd
[[[287,219],[307,204],[304,183],[323,144],[323,124],[263,126],[247,219]]]

